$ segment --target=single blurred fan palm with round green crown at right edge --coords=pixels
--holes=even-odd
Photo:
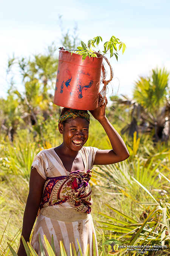
[[[149,77],[135,83],[133,98],[143,108],[143,125],[154,130],[154,140],[167,140],[170,132],[169,72],[153,69]]]

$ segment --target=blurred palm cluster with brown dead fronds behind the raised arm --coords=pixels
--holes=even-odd
[[[122,133],[131,137],[136,132],[153,132],[154,141],[167,141],[170,134],[169,72],[153,69],[150,76],[140,77],[134,84],[133,100],[123,96],[114,103],[121,105],[130,116]]]

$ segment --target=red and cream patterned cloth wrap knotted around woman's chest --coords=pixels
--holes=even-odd
[[[91,212],[91,170],[72,171],[69,176],[47,178],[39,212],[43,207],[71,202],[77,212]]]

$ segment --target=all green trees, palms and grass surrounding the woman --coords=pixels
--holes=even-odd
[[[23,92],[11,80],[13,68],[20,72]],[[29,60],[9,60],[7,77],[11,87],[7,99],[0,99],[1,255],[12,255],[7,242],[17,251],[32,160],[40,150],[62,142],[57,128],[60,107],[53,104],[52,93],[56,71],[54,45]],[[108,239],[119,239],[123,245],[166,245],[166,249],[148,251],[147,255],[170,255],[168,76],[165,69],[155,69],[135,83],[132,100],[111,99],[113,106],[107,115],[117,131],[122,131],[130,157],[94,168],[90,182],[99,255],[108,255],[111,250],[104,244]],[[86,146],[111,148],[104,130],[93,118]],[[62,255],[66,255],[62,244],[61,248]],[[127,251],[122,250],[121,255],[125,254]],[[36,254],[32,251],[32,255]]]

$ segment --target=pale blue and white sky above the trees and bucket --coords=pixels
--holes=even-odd
[[[45,53],[52,42],[61,47],[62,16],[65,31],[72,33],[77,24],[83,42],[96,36],[105,42],[114,35],[126,44],[118,62],[110,59],[114,79],[108,94],[113,88],[114,95],[132,97],[140,76],[157,67],[170,71],[169,13],[170,0],[0,0],[0,96],[9,89],[8,58]],[[23,90],[17,72],[14,81]]]

